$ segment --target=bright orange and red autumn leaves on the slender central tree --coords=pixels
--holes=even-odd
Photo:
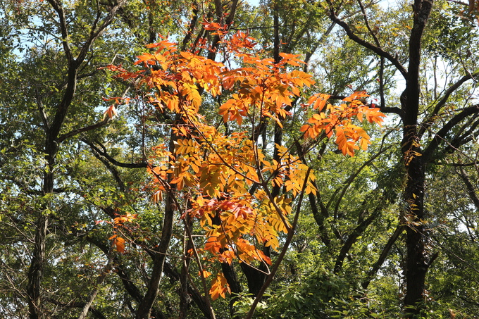
[[[272,261],[263,246],[284,249],[278,240],[281,233],[294,232],[292,225],[294,199],[299,194],[315,193],[314,174],[292,147],[270,145],[263,149],[256,132],[261,125],[281,126],[293,106],[304,101],[300,118],[307,119],[297,132],[297,143],[313,147],[323,138],[335,137],[344,155],[354,156],[365,150],[370,138],[354,118],[361,122],[382,122],[378,108],[364,105],[366,94],[356,92],[339,106],[328,102],[327,94],[312,94],[311,75],[299,70],[298,56],[280,54],[261,58],[253,53],[254,39],[237,32],[227,39],[220,25],[205,25],[215,30],[228,54],[239,58],[232,68],[211,61],[197,52],[178,51],[176,44],[163,40],[150,44],[149,53],[138,56],[142,70],[129,72],[111,65],[109,68],[123,80],[146,87],[148,101],[159,113],[176,115],[169,141],[154,147],[148,171],[154,184],[152,200],[171,196],[178,211],[197,218],[204,230],[204,245],[192,249],[197,261],[220,263],[263,263]],[[230,64],[228,64],[230,65]],[[221,96],[218,115],[227,123],[211,125],[201,115],[204,102]],[[113,116],[113,110],[108,116]],[[261,142],[261,143],[260,143]],[[306,144],[306,143],[304,143]],[[273,159],[271,149],[278,159]],[[273,196],[271,189],[282,187],[282,195]],[[112,237],[118,251],[125,249],[123,239]],[[199,258],[201,257],[201,258]],[[199,266],[200,269],[203,269]],[[206,270],[200,275],[211,275]],[[211,284],[211,298],[225,296],[228,283],[221,273]]]

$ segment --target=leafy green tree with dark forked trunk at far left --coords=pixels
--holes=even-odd
[[[66,273],[58,272],[62,274],[59,277],[64,277],[61,284],[51,282],[54,277],[44,277],[52,270],[52,263],[58,265],[59,261],[66,261],[68,264],[71,258],[77,258],[77,249],[66,249],[66,254],[54,249],[58,245],[56,241],[85,246],[85,243],[78,242],[78,239],[85,238],[87,223],[91,227],[91,217],[85,215],[98,209],[90,201],[88,185],[86,189],[76,188],[79,184],[83,186],[86,180],[75,180],[78,176],[75,168],[82,164],[75,163],[74,158],[86,159],[89,156],[85,156],[84,149],[73,141],[80,135],[85,139],[87,132],[98,131],[108,124],[109,118],[98,119],[94,106],[104,106],[101,95],[105,96],[108,89],[114,87],[113,82],[104,82],[99,67],[111,62],[111,56],[120,52],[120,40],[108,42],[108,39],[115,37],[111,24],[118,11],[123,12],[120,10],[123,2],[93,8],[90,4],[80,6],[59,1],[42,4],[6,1],[2,6],[4,30],[11,30],[3,35],[8,39],[5,43],[10,45],[4,56],[8,58],[6,65],[11,68],[2,70],[2,74],[5,75],[6,88],[16,88],[11,94],[6,91],[1,94],[1,180],[2,188],[6,190],[2,194],[2,213],[7,221],[4,227],[11,226],[16,230],[5,234],[6,242],[15,247],[13,254],[7,255],[8,259],[4,261],[4,269],[10,278],[6,292],[13,291],[14,299],[18,301],[15,315],[20,317],[27,315],[23,311],[23,301],[28,304],[30,318],[56,315],[61,313],[58,308],[83,308],[85,313],[92,309],[88,304],[91,300],[72,302],[65,300],[68,294],[57,298],[45,293],[51,289],[42,288],[46,283],[69,286],[63,283],[67,278],[75,277],[75,262],[66,265]],[[25,34],[23,30],[26,30]],[[27,37],[27,44],[20,41],[22,37]],[[16,39],[18,44],[13,41]],[[104,51],[106,56],[101,56],[99,47],[110,50],[111,54]],[[23,53],[23,58],[15,53]],[[100,93],[102,90],[103,94]],[[53,239],[50,242],[49,237]],[[28,273],[22,271],[16,275],[9,271],[12,269],[11,258],[15,256],[22,265],[20,269],[28,268]],[[106,259],[110,257],[108,254]],[[101,256],[95,258],[82,260],[87,265],[95,261],[100,265],[107,263]],[[25,286],[24,282],[28,284]],[[73,280],[70,287],[80,286]],[[91,296],[94,298],[94,294]],[[73,296],[72,300],[78,297]],[[5,312],[12,311],[8,300],[2,307]],[[43,306],[46,303],[49,306]]]

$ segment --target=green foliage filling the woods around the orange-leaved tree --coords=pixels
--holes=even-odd
[[[391,61],[409,66],[413,14],[411,1],[384,2],[331,1],[355,35],[391,54],[383,68],[377,52],[332,24],[329,1],[260,1],[258,6],[239,1],[236,8],[229,27],[256,38],[251,51],[260,58],[274,58],[277,51],[299,54],[308,64],[290,65],[287,70],[307,70],[319,84],[292,101],[288,106],[292,116],[280,119],[281,130],[272,118],[262,118],[264,126],[243,127],[249,139],[259,136],[268,161],[278,155],[275,144],[291,146],[288,151],[294,156],[306,152],[301,160],[313,168],[318,189],[303,198],[290,248],[254,318],[407,318],[408,311],[416,310],[404,308],[408,267],[404,228],[412,227],[402,213],[411,204],[404,199],[409,176],[402,153],[404,118],[400,118],[404,112],[400,95],[406,83],[399,80],[400,72]],[[61,35],[55,3],[63,6],[66,38]],[[227,294],[227,299],[209,299],[213,278],[206,277],[204,286],[192,252],[192,245],[203,246],[206,238],[201,225],[192,221],[189,239],[182,219],[185,211],[175,210],[177,205],[191,208],[196,194],[175,190],[176,203],[167,203],[169,195],[151,200],[158,188],[145,169],[151,146],[168,146],[173,141],[171,128],[180,118],[174,111],[149,104],[153,95],[148,89],[139,89],[135,81],[116,77],[106,68],[114,64],[151,72],[134,63],[140,54],[153,53],[145,45],[161,41],[158,35],[178,42],[180,51],[213,56],[233,67],[251,66],[241,64],[242,56],[225,51],[228,42],[219,43],[215,54],[207,49],[215,31],[206,30],[202,23],[225,23],[235,1],[223,1],[221,8],[216,8],[217,3],[127,1],[121,6],[75,71],[75,94],[55,137],[58,149],[49,154],[49,128],[71,80],[62,41],[68,39],[70,53],[77,58],[95,20],[106,18],[114,4],[1,1],[0,313],[5,318],[29,316],[30,265],[42,216],[48,219],[40,289],[44,317],[77,318],[97,291],[88,318],[134,318],[154,277],[168,210],[173,210],[172,234],[162,255],[165,266],[152,315],[206,318],[207,300],[216,318],[243,318],[250,311],[251,282],[265,280],[261,272],[268,274],[270,266],[254,262],[251,265],[259,269],[254,273],[235,261],[230,268],[218,263],[203,269],[211,273],[230,269],[238,284],[239,292]],[[417,318],[479,317],[479,121],[477,112],[458,119],[477,104],[478,35],[474,11],[460,1],[434,1],[422,38],[416,118],[421,134],[416,146],[424,151],[433,141],[440,142],[425,165],[426,218],[420,223],[425,225],[424,256],[430,265]],[[221,96],[201,96],[198,113],[225,137],[239,125],[225,124],[217,108],[238,88],[239,82]],[[339,104],[342,96],[359,90],[371,95],[364,103],[378,105],[383,98],[383,109],[390,111],[384,127],[356,123],[371,136],[367,151],[344,157],[321,136],[301,139],[301,125],[313,116],[301,104],[318,93],[333,95],[337,100],[331,101]],[[118,114],[104,120],[112,105]],[[453,118],[457,122],[452,123]],[[449,127],[444,134],[443,127]],[[52,192],[44,191],[47,175],[54,176]],[[300,204],[299,196],[283,187],[270,191],[290,200],[293,211]],[[126,221],[116,223],[118,218]],[[118,237],[125,241],[123,251],[115,242]],[[278,237],[280,244],[286,240],[287,234]],[[278,251],[262,252],[273,265],[280,258]],[[206,265],[212,256],[201,257]],[[104,281],[98,284],[102,275]]]

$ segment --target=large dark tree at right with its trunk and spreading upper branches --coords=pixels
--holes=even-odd
[[[423,50],[424,42],[428,43],[427,27],[430,15],[434,12],[435,6],[449,6],[447,3],[435,1],[414,1],[412,8],[412,20],[409,25],[408,39],[409,44],[406,46],[406,56],[404,61],[390,54],[387,50],[388,39],[382,39],[377,35],[375,26],[379,25],[373,17],[368,17],[367,12],[361,1],[358,6],[363,15],[363,21],[354,21],[347,23],[338,18],[335,7],[328,2],[330,10],[330,18],[332,21],[340,25],[346,32],[347,36],[357,44],[370,49],[382,61],[388,61],[394,68],[404,77],[406,82],[404,91],[402,92],[400,108],[387,108],[382,104],[380,109],[385,113],[395,113],[402,120],[402,142],[401,149],[404,157],[404,176],[406,182],[404,184],[402,211],[402,222],[406,227],[406,264],[404,272],[406,273],[406,293],[404,297],[404,308],[406,312],[411,310],[412,315],[419,315],[423,309],[423,301],[425,300],[425,277],[430,265],[435,260],[435,254],[428,251],[427,237],[428,227],[427,220],[430,218],[425,209],[425,186],[426,171],[430,163],[433,163],[444,156],[449,151],[454,151],[460,146],[471,141],[477,132],[475,132],[475,121],[479,112],[478,105],[471,104],[464,108],[458,108],[452,113],[443,113],[447,108],[449,101],[452,101],[452,95],[468,80],[472,80],[477,73],[469,70],[470,66],[466,64],[458,65],[457,68],[462,70],[463,74],[455,75],[455,80],[448,82],[447,89],[437,92],[437,82],[435,82],[434,98],[423,99],[421,96],[421,87],[427,87],[428,83],[421,83],[421,66],[424,54],[430,53],[432,50]],[[452,11],[457,10],[454,5],[450,7]],[[441,14],[441,13],[439,13]],[[442,11],[443,16],[447,12]],[[443,18],[444,20],[447,18]],[[444,21],[443,20],[443,21]],[[454,22],[453,22],[454,23]],[[464,24],[463,32],[471,32],[474,25],[467,20],[456,21],[457,25]],[[373,27],[374,26],[374,27]],[[366,31],[364,37],[359,37],[359,27]],[[444,25],[437,23],[434,27],[440,27],[444,32]],[[436,29],[437,30],[437,29]],[[433,31],[434,32],[434,31]],[[444,35],[440,33],[440,36]],[[475,37],[475,33],[469,33],[470,37]],[[466,44],[467,46],[467,44]],[[453,46],[454,54],[459,55],[462,59],[461,50],[464,49],[461,44]],[[457,50],[457,51],[456,51]],[[452,51],[452,50],[451,50]],[[439,54],[433,51],[436,56]],[[448,58],[450,52],[442,56]],[[453,55],[454,55],[453,54]],[[407,68],[404,67],[407,63]],[[435,65],[433,65],[433,68]],[[383,66],[382,66],[383,68]],[[436,69],[433,69],[436,71]],[[452,75],[449,75],[452,76]],[[436,79],[436,77],[435,77]],[[383,78],[379,78],[380,83]],[[427,93],[424,94],[427,96]],[[423,96],[424,96],[423,95]],[[469,99],[465,97],[466,101]],[[425,108],[421,108],[425,106]]]

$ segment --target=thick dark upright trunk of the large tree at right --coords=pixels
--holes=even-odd
[[[406,188],[404,190],[404,211],[406,223],[406,294],[404,312],[415,317],[421,313],[425,275],[428,270],[426,245],[423,239],[425,220],[424,185],[425,161],[418,136],[419,99],[421,85],[419,68],[421,65],[421,42],[428,23],[433,0],[415,0],[413,4],[413,28],[409,37],[409,66],[406,76],[406,89],[401,96],[403,116],[402,154],[406,167]]]

